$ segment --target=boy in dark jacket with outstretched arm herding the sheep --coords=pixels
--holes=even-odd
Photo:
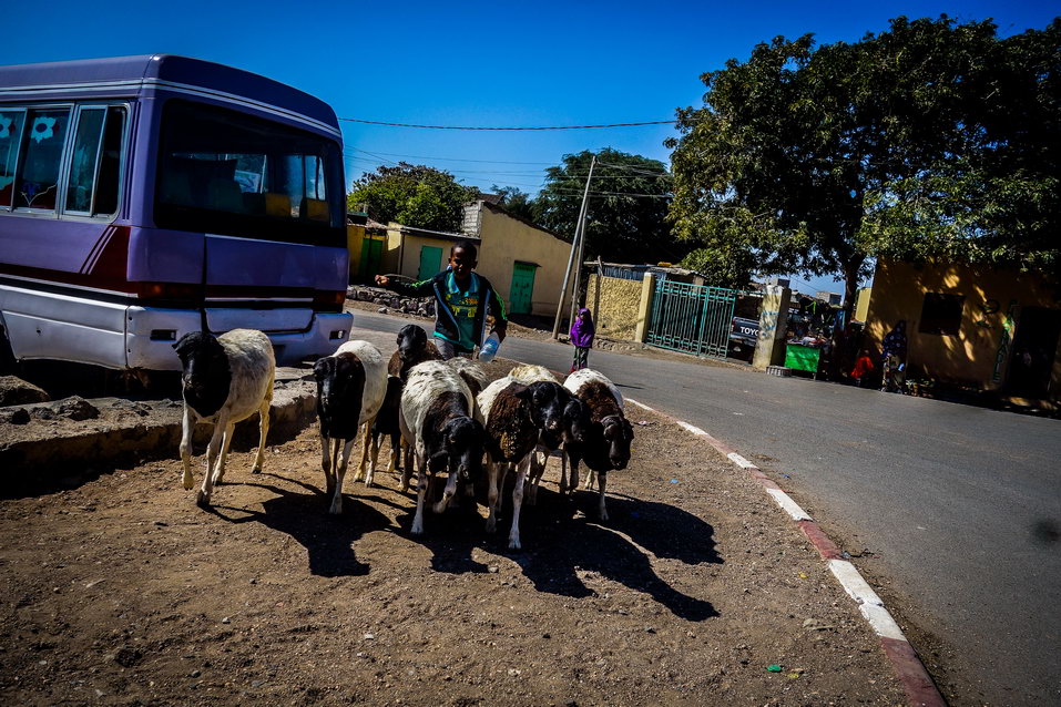
[[[493,317],[491,332],[504,340],[508,318],[504,303],[490,280],[475,271],[479,249],[470,240],[458,240],[449,249],[449,267],[435,277],[411,285],[377,275],[376,284],[406,297],[435,296],[435,345],[443,359],[470,357],[482,345],[487,310]]]

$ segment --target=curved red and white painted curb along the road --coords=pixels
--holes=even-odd
[[[885,655],[891,660],[891,665],[899,677],[899,683],[902,685],[904,691],[906,691],[909,704],[912,707],[946,707],[947,703],[943,696],[936,688],[936,684],[932,683],[932,678],[928,675],[928,670],[925,669],[921,659],[917,656],[910,642],[907,641],[907,637],[902,634],[902,629],[895,623],[888,609],[885,608],[884,602],[880,601],[877,593],[873,591],[869,583],[863,578],[858,568],[847,560],[844,560],[839,547],[837,547],[836,544],[829,540],[829,536],[825,534],[825,531],[814,522],[809,513],[799,508],[799,504],[793,501],[792,496],[785,493],[773,479],[764,474],[758,467],[704,430],[688,422],[672,418],[659,410],[654,410],[643,402],[637,402],[630,398],[626,398],[626,402],[631,402],[639,408],[644,408],[645,410],[667,418],[679,427],[703,438],[704,441],[715,448],[715,451],[741,469],[747,471],[759,485],[766,489],[766,492],[773,496],[777,505],[788,513],[792,520],[799,525],[799,529],[807,536],[807,540],[815,546],[818,554],[822,555],[822,559],[826,561],[829,570],[834,576],[836,576],[837,581],[839,581],[840,586],[843,586],[844,591],[858,604],[858,611],[863,613],[863,616],[869,622],[869,626],[874,629],[874,633],[880,638],[880,645],[884,648]]]

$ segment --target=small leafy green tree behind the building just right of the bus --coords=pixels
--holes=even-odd
[[[354,208],[364,205],[380,223],[453,232],[460,227],[461,206],[479,191],[457,183],[449,172],[399,162],[397,166],[366,172],[347,195]]]

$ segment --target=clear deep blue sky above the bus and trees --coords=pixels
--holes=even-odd
[[[17,2],[0,64],[175,53],[254,71],[324,99],[340,117],[540,126],[663,121],[701,105],[700,74],[761,41],[856,41],[906,14],[993,18],[1003,35],[1061,7],[978,2]],[[489,189],[535,192],[564,154],[613,147],[667,163],[670,125],[531,132],[344,122],[347,180],[399,160]],[[797,287],[799,283],[796,283]],[[828,280],[810,283],[834,289]],[[820,287],[818,287],[820,285]],[[809,287],[805,289],[810,289]]]

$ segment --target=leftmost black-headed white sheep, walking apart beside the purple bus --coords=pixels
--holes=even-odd
[[[233,428],[255,412],[261,417],[261,437],[251,473],[262,471],[276,359],[269,338],[254,329],[233,329],[218,337],[207,331],[192,331],[181,337],[173,348],[183,369],[181,461],[184,462],[185,489],[191,490],[194,483],[191,460],[195,423],[214,423],[214,434],[206,448],[203,486],[195,496],[196,503],[205,505],[210,503],[214,484],[221,483],[225,475]]]

